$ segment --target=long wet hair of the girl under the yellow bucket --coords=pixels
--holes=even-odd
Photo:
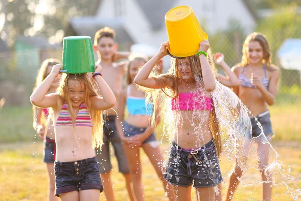
[[[189,59],[189,63],[192,69],[192,76],[194,77],[196,82],[203,82],[203,75],[202,75],[202,68],[200,59],[198,56],[193,55],[187,57]],[[216,74],[216,69],[212,67],[211,60],[209,59],[210,67],[214,74]],[[146,90],[147,97],[146,102],[151,102],[154,105],[154,113],[150,117],[152,126],[156,125],[156,118],[159,117],[161,114],[158,111],[158,108],[162,108],[161,103],[164,103],[165,96],[171,98],[177,98],[179,96],[179,88],[178,83],[181,79],[180,73],[178,71],[177,63],[180,62],[179,59],[172,58],[171,60],[171,67],[165,74],[154,75],[153,72],[150,74],[150,77],[154,78],[160,89],[145,89],[144,87],[140,87],[143,90]],[[162,92],[164,94],[162,94]],[[215,108],[212,101],[212,109],[210,111],[210,121],[209,127],[212,132],[213,138],[215,139],[215,148],[217,150],[217,154],[222,152],[222,138],[219,135],[219,125],[216,119]]]

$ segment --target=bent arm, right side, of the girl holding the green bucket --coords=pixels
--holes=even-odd
[[[95,66],[94,79],[98,85],[102,97],[94,96],[92,97],[92,108],[94,110],[107,110],[112,108],[116,104],[116,98],[113,91],[110,89],[108,84],[104,81],[102,76],[100,76],[102,68],[99,64]],[[98,74],[99,73],[99,74]]]

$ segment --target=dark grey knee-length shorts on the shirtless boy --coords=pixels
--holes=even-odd
[[[113,153],[118,161],[119,172],[123,174],[129,174],[129,165],[126,155],[124,153],[121,140],[116,130],[115,116],[105,116],[106,121],[103,126],[103,145],[101,149],[96,149],[96,157],[98,161],[98,167],[100,173],[107,173],[111,171],[112,164],[111,158]],[[110,146],[112,145],[114,151],[110,152]]]

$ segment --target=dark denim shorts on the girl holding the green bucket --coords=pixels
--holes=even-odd
[[[55,195],[103,187],[99,176],[96,157],[73,162],[55,162]]]

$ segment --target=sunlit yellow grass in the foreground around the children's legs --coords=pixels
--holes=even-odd
[[[161,145],[163,150],[167,150],[167,144]],[[289,174],[295,178],[297,185],[301,184],[301,143],[296,142],[274,142],[273,147],[280,154],[285,168],[290,166]],[[46,165],[42,163],[42,143],[27,142],[14,144],[0,144],[0,200],[47,200],[48,176]],[[287,156],[289,153],[289,157]],[[124,178],[118,173],[118,166],[115,158],[113,162],[113,182],[116,201],[128,200],[125,190]],[[148,161],[144,153],[141,154],[142,182],[146,200],[167,200],[164,189],[155,169]],[[222,184],[223,196],[225,196],[228,185],[229,172],[233,161],[221,160],[221,169],[224,178]],[[244,184],[239,185],[234,200],[260,200],[261,184],[259,172],[249,170],[242,178]],[[288,183],[289,187],[294,187],[293,183]],[[288,201],[292,200],[289,195],[285,195],[286,188],[279,185],[278,189],[273,188],[272,200]],[[192,194],[194,195],[193,190]],[[104,194],[100,194],[100,200],[104,200]]]

